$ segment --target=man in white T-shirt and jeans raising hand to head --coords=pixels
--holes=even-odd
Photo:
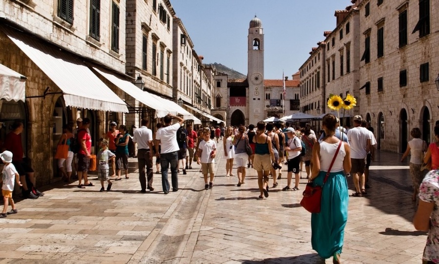
[[[172,119],[177,123],[171,125]],[[179,179],[177,167],[179,165],[178,151],[180,150],[177,142],[177,130],[183,125],[184,119],[168,114],[163,118],[164,126],[156,132],[156,155],[160,158],[161,166],[161,185],[164,194],[169,193],[168,168],[171,165],[171,182],[172,191],[179,190]],[[159,153],[159,144],[161,144],[161,153]]]

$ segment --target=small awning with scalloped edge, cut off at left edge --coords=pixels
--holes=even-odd
[[[24,102],[26,77],[0,64],[0,99]]]

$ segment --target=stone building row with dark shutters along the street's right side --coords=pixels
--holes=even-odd
[[[352,3],[346,8],[348,12],[336,11],[337,27],[325,32],[325,40],[319,42],[319,47],[300,67],[301,109],[306,110],[314,100],[312,93],[306,92],[307,80],[312,79],[309,67],[313,66],[309,63],[318,51],[325,49],[325,63],[320,64],[325,72],[325,86],[324,91],[317,92],[319,96],[322,94],[324,105],[331,93],[354,94],[358,104],[351,110],[352,115],[362,115],[375,128],[379,149],[404,152],[414,127],[421,129],[425,141],[432,142],[434,117],[439,114],[435,85],[438,75],[434,71],[438,65],[439,49],[435,43],[439,38],[439,23],[430,14],[438,10],[439,2],[352,0]],[[348,47],[350,73],[346,64]]]

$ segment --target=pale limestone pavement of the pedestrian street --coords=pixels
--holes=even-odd
[[[398,154],[377,156],[369,194],[349,199],[341,260],[421,263],[426,234],[411,223],[417,204],[408,163],[399,163]],[[164,195],[155,174],[155,190],[140,193],[137,162],[130,159],[130,179],[113,182],[109,192],[99,192],[92,176],[94,187],[57,183],[37,200],[17,199],[19,213],[0,219],[0,264],[322,263],[311,247],[310,214],[299,205],[305,179],[300,191],[281,191],[284,166],[278,187],[257,200],[254,169],[237,187],[237,177],[225,177],[221,141],[216,160],[212,190],[204,190],[193,163],[187,175],[180,172],[179,191]]]

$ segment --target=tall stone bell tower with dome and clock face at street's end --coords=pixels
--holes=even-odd
[[[264,34],[262,22],[250,20],[248,45],[248,124],[264,120]]]

